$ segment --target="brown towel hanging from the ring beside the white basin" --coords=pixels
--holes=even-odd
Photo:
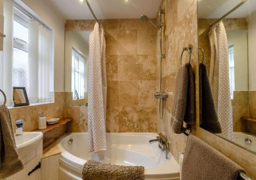
[[[0,106],[0,153],[0,179],[24,168],[16,150],[10,112],[5,105]]]

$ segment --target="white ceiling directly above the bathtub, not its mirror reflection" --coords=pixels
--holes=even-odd
[[[78,0],[49,0],[58,13],[66,20],[93,19],[86,3]],[[139,18],[145,14],[156,18],[161,0],[90,0],[98,19]]]

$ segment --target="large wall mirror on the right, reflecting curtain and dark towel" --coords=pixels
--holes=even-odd
[[[256,1],[198,0],[198,38],[200,127],[256,154]]]

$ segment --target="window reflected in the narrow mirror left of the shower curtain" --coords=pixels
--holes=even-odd
[[[85,58],[82,53],[72,48],[72,92],[74,99],[84,98]]]

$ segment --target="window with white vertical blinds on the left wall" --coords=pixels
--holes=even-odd
[[[30,104],[54,101],[54,30],[31,13],[14,1],[4,3],[6,37],[0,51],[0,88],[7,106],[12,105],[13,86],[26,88]],[[0,104],[3,101],[0,95]]]

